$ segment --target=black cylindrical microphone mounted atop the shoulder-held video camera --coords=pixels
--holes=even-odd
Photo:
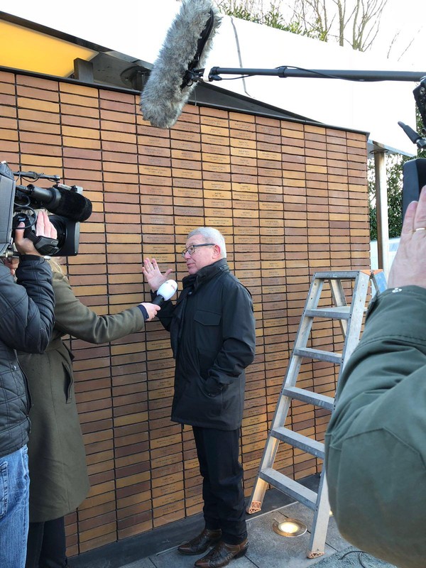
[[[16,189],[40,202],[51,213],[67,217],[71,221],[86,221],[92,214],[92,202],[81,193],[67,189],[66,185],[44,188],[31,183],[27,187],[16,185]]]

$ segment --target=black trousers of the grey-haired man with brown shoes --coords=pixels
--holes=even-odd
[[[240,431],[196,426],[192,430],[202,475],[206,528],[222,529],[224,542],[239,545],[247,537]]]

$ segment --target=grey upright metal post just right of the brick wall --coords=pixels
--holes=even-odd
[[[388,184],[386,182],[386,150],[374,152],[376,173],[377,255],[378,268],[389,274]]]

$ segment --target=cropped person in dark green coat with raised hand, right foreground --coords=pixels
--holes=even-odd
[[[408,206],[389,288],[337,390],[326,435],[329,499],[352,544],[402,568],[425,566],[426,186]]]

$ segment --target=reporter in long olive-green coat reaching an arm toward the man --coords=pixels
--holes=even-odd
[[[89,343],[111,342],[144,329],[160,309],[143,303],[115,315],[98,316],[72,292],[53,266],[55,327],[44,354],[19,353],[32,408],[28,442],[30,530],[26,568],[66,567],[64,516],[89,491],[86,456],[75,403],[72,354],[62,342],[70,334]]]

